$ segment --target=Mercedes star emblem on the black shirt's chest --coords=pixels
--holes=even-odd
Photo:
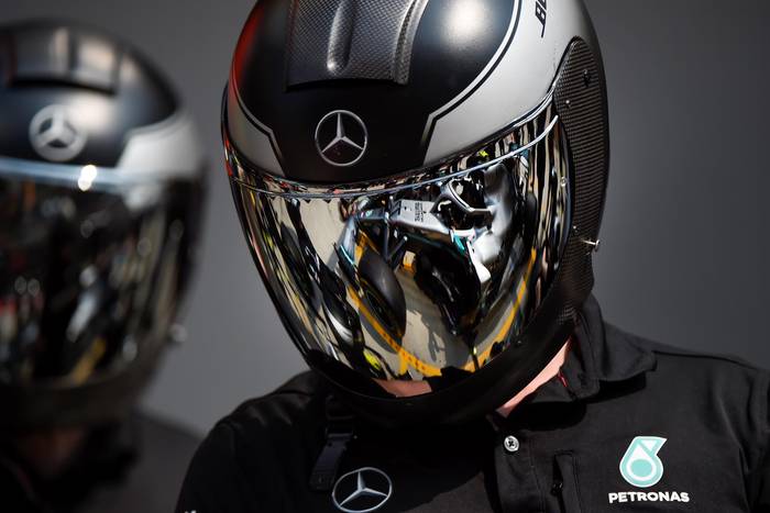
[[[392,493],[391,478],[380,469],[365,467],[342,476],[334,483],[331,499],[345,513],[369,513],[385,505]]]

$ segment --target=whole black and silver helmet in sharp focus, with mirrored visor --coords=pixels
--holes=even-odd
[[[222,116],[266,288],[362,413],[487,412],[571,334],[608,169],[580,0],[261,0]]]

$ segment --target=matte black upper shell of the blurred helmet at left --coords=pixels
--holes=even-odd
[[[177,104],[158,71],[99,30],[35,21],[0,26],[0,155],[45,160],[30,125],[48,105],[84,114],[86,145],[67,164],[114,166],[127,133],[161,122]]]

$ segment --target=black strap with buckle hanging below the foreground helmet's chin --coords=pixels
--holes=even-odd
[[[330,491],[334,486],[340,461],[348,449],[348,443],[353,438],[354,431],[355,417],[332,395],[327,398],[326,416],[326,443],[310,475],[310,490],[316,492]]]

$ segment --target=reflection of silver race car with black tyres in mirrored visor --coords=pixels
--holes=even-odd
[[[524,232],[522,216],[537,216],[537,200],[521,198],[503,164],[410,198],[363,198],[352,205],[336,246],[340,266],[394,336],[406,331],[406,302],[395,276],[406,269],[448,330],[470,341],[504,281],[498,275],[515,234]],[[522,247],[531,247],[534,231],[524,235]]]

